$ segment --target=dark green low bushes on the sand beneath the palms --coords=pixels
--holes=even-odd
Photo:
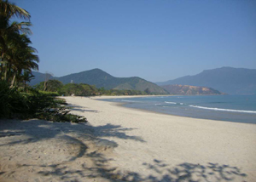
[[[65,100],[56,99],[50,94],[30,89],[23,93],[17,88],[9,88],[0,82],[0,118],[17,117],[20,119],[38,118],[54,122],[87,122],[85,117],[70,114]]]

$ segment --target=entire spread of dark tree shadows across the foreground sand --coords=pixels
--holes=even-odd
[[[122,128],[120,125],[106,124],[93,127],[89,124],[45,122],[39,120],[15,121],[0,120],[0,139],[16,135],[26,135],[26,139],[18,139],[0,145],[26,145],[47,139],[60,138],[69,143],[79,145],[79,152],[65,162],[54,164],[23,163],[20,168],[38,168],[38,175],[47,180],[86,181],[87,179],[102,179],[103,181],[231,181],[236,178],[243,179],[247,174],[237,167],[208,162],[206,165],[183,162],[176,166],[166,164],[164,161],[154,159],[151,163],[138,163],[151,174],[148,176],[138,172],[120,172],[120,168],[108,165],[113,158],[106,156],[108,148],[117,147],[118,144],[106,138],[131,139],[137,142],[146,142],[138,136],[130,136],[125,131],[134,128]],[[104,139],[100,139],[100,138]],[[94,141],[95,150],[84,141]],[[84,158],[87,160],[84,161]],[[76,162],[76,168],[69,164]],[[123,170],[122,170],[123,171]],[[0,177],[6,171],[0,171]]]

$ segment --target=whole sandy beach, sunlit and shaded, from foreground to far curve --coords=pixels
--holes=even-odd
[[[64,99],[89,123],[0,122],[0,181],[256,179],[256,125]]]

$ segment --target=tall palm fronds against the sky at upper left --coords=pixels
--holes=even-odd
[[[37,50],[30,46],[30,39],[26,35],[32,34],[30,22],[12,22],[12,17],[30,20],[30,14],[8,0],[0,0],[0,79],[7,82],[12,78],[22,82],[32,70],[38,70]]]

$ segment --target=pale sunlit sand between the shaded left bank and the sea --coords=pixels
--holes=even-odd
[[[121,168],[124,173],[133,171],[144,177],[152,174],[160,179],[160,173],[147,169],[145,165],[154,166],[161,173],[172,176],[168,173],[172,168],[187,164],[200,164],[202,168],[207,168],[214,163],[218,164],[218,168],[232,166],[246,173],[247,177],[242,174],[234,181],[253,181],[256,178],[254,124],[176,117],[96,99],[65,99],[74,108],[86,107],[83,116],[94,126],[102,128],[108,125],[111,131],[122,131],[122,134],[102,136],[118,145],[113,150],[116,157],[110,164]],[[74,113],[81,114],[79,111]],[[158,168],[164,164],[165,168]]]

